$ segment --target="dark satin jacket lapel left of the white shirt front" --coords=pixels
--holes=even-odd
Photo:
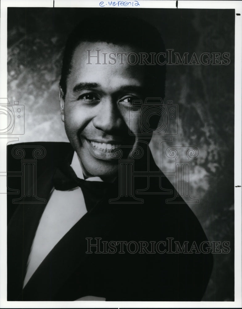
[[[52,174],[51,170],[46,170],[39,179],[39,183],[45,186],[37,188],[38,197],[45,199],[46,203],[52,189]],[[23,288],[28,256],[46,203],[19,204],[8,225],[8,285],[11,286],[8,291],[14,291],[16,296]],[[12,297],[8,295],[9,299]]]

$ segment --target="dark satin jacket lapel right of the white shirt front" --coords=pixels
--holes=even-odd
[[[101,211],[100,211],[101,210]],[[23,289],[23,300],[53,300],[60,287],[68,280],[87,254],[86,237],[105,238],[115,228],[120,206],[101,201],[85,214],[56,244]]]

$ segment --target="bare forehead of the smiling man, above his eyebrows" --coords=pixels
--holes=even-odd
[[[72,57],[68,80],[72,82],[97,82],[104,84],[132,82],[140,85],[144,66],[130,65],[127,55],[135,53],[131,46],[107,42],[81,42]],[[132,60],[132,57],[129,58]],[[138,80],[138,82],[137,82]]]

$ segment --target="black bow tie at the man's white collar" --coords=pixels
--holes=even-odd
[[[87,210],[91,210],[113,186],[113,183],[86,181],[76,176],[68,162],[62,162],[55,171],[53,183],[56,190],[66,191],[76,187],[82,189]]]

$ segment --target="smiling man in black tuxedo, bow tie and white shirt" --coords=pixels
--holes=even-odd
[[[172,240],[199,247],[207,238],[181,198],[166,204],[164,192],[174,188],[154,164],[151,136],[141,137],[141,111],[130,112],[137,101],[164,98],[165,66],[148,65],[164,52],[154,27],[125,15],[92,16],[69,36],[60,109],[70,144],[8,149],[8,171],[21,169],[23,152],[43,152],[34,178],[39,201],[31,200],[31,181],[8,179],[12,190],[31,192],[8,194],[8,300],[201,300],[211,254],[176,252]],[[149,118],[152,129],[158,120]],[[142,172],[159,173],[158,184]],[[165,191],[156,194],[160,179]],[[142,248],[134,253],[131,243]]]

